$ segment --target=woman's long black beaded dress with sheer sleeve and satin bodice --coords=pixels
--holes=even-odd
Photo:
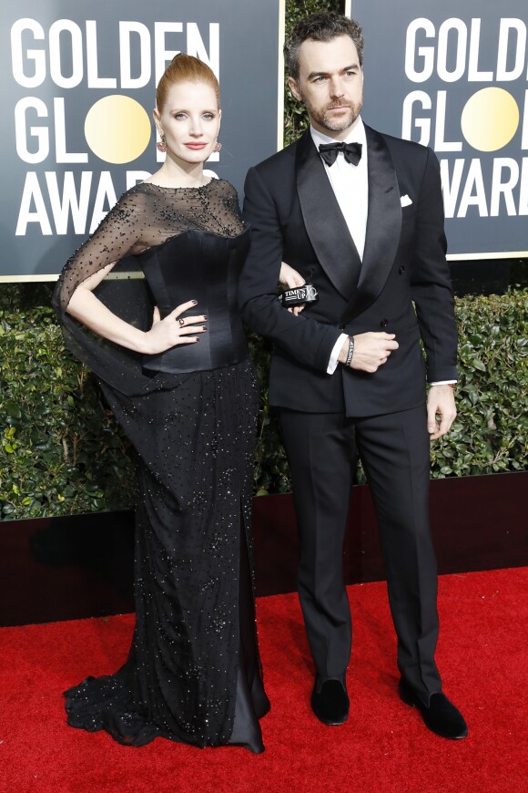
[[[137,452],[132,646],[115,675],[66,691],[71,726],[127,745],[165,736],[263,750],[250,532],[258,394],[237,309],[248,246],[227,181],[143,183],[66,263],[54,295],[66,345]],[[114,262],[96,295],[117,315],[147,330],[154,305],[163,317],[195,299],[208,333],[137,355],[86,330],[66,314],[69,299]]]

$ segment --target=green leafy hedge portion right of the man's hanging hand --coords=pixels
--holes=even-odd
[[[528,290],[456,301],[459,415],[432,446],[432,476],[528,468]]]

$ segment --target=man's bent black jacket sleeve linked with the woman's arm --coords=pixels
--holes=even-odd
[[[277,207],[257,170],[249,170],[244,190],[251,247],[239,281],[242,317],[251,330],[272,339],[295,360],[325,373],[341,331],[306,314],[290,314],[279,303],[283,239]]]

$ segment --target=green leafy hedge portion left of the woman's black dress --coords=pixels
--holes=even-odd
[[[0,311],[0,344],[2,517],[126,508],[127,441],[51,309]]]

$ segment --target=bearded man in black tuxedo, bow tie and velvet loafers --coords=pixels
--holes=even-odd
[[[300,529],[315,715],[337,725],[349,713],[342,544],[355,436],[380,527],[401,699],[433,732],[461,738],[467,726],[443,695],[434,662],[428,518],[430,439],[456,415],[439,166],[431,149],[363,125],[362,48],[360,27],[335,13],[301,20],[285,46],[289,88],[311,126],[249,170],[252,242],[240,300],[249,326],[275,343],[269,403],[279,408]],[[319,292],[302,314],[277,299],[281,260],[295,268],[293,282]],[[427,403],[420,338],[432,383]]]

